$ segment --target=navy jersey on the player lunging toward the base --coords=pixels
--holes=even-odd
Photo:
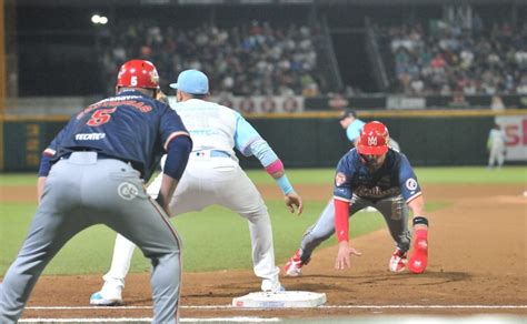
[[[334,196],[351,201],[354,194],[371,201],[401,194],[409,202],[421,194],[421,189],[405,154],[389,149],[385,163],[370,173],[357,149],[352,149],[338,163]]]

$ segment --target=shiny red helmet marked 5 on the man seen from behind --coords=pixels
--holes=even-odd
[[[159,74],[151,62],[131,60],[119,69],[117,87],[158,89]]]

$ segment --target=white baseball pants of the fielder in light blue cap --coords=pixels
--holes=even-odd
[[[206,152],[205,154],[202,152]],[[275,265],[272,229],[267,206],[255,184],[237,161],[229,156],[210,156],[209,151],[192,152],[187,169],[170,202],[171,215],[200,211],[209,205],[225,206],[249,222],[255,274],[262,280],[262,291],[280,287]],[[148,193],[156,196],[162,174],[148,186]],[[113,295],[115,290],[125,286],[125,276],[130,267],[133,243],[118,235],[110,271],[103,276],[102,293]]]

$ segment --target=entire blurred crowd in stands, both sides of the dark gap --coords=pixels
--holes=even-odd
[[[390,92],[527,94],[527,22],[486,26],[476,16],[470,26],[430,20],[376,32],[388,52]],[[105,79],[111,93],[118,67],[140,58],[158,67],[166,91],[180,71],[198,69],[216,95],[315,97],[335,91],[326,85],[322,37],[318,28],[261,21],[228,28],[126,23],[103,47]]]

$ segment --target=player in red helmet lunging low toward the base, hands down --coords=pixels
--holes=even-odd
[[[427,266],[428,220],[424,216],[425,202],[417,178],[407,158],[388,148],[388,130],[380,122],[365,124],[355,149],[338,163],[335,176],[334,204],[329,204],[317,223],[305,233],[295,255],[285,265],[288,276],[301,275],[312,251],[335,232],[339,242],[336,269],[350,265],[350,255],[360,252],[349,246],[348,217],[366,206],[376,207],[385,217],[396,250],[389,270],[401,272],[410,247],[409,209],[414,213],[414,253],[408,269],[421,273]]]

